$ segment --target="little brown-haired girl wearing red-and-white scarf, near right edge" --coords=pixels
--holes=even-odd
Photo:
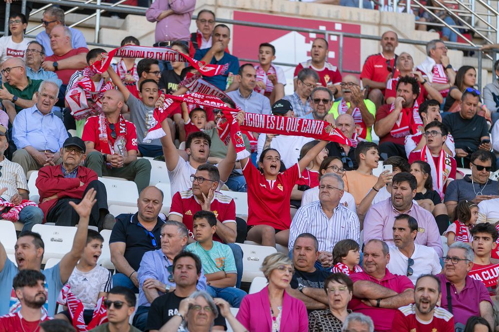
[[[475,226],[477,219],[478,206],[475,203],[466,200],[459,202],[454,210],[454,222],[444,232],[444,236],[447,237],[447,245],[456,241],[471,243],[470,229]]]

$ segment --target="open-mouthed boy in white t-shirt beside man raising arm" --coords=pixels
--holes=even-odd
[[[71,287],[70,292],[83,304],[83,319],[87,325],[92,320],[97,301],[101,297],[107,297],[107,293],[113,287],[111,272],[105,267],[97,265],[97,260],[102,253],[103,242],[104,238],[101,234],[93,229],[88,230],[87,244],[83,249],[83,255],[67,282]],[[55,315],[54,318],[72,323],[69,310]]]

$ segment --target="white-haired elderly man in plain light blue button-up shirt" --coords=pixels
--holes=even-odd
[[[52,111],[58,93],[57,84],[42,82],[33,107],[26,108],[15,116],[12,139],[17,150],[12,161],[21,165],[24,174],[62,161],[59,150],[68,134],[62,120]]]

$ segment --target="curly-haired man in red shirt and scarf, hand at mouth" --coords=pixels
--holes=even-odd
[[[383,105],[376,112],[374,131],[380,137],[379,151],[382,158],[406,158],[405,137],[418,132],[418,127],[423,124],[418,112],[419,93],[419,84],[414,77],[401,77],[397,82],[395,102]]]

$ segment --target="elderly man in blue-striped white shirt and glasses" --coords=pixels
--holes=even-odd
[[[340,204],[344,183],[334,173],[321,176],[319,201],[301,206],[296,212],[289,229],[289,251],[294,239],[301,233],[311,233],[319,242],[319,258],[315,267],[327,269],[333,265],[334,245],[344,239],[360,241],[360,222],[357,215]]]

